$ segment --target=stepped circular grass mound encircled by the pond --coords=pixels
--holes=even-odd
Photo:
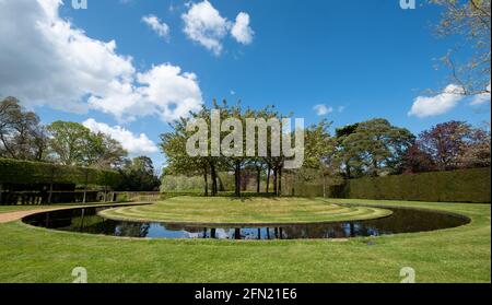
[[[388,216],[390,210],[341,207],[323,199],[176,197],[150,206],[109,209],[101,215],[114,220],[173,223],[279,224],[367,220]]]

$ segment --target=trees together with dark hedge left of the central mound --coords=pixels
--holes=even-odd
[[[160,186],[150,157],[129,159],[120,142],[79,122],[59,120],[45,126],[15,97],[0,102],[0,157],[4,159],[0,183],[89,181],[131,191],[159,190]]]

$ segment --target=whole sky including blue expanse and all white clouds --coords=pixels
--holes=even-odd
[[[457,43],[432,34],[438,13],[399,0],[0,0],[0,98],[157,164],[168,122],[213,98],[274,104],[308,124],[479,124],[490,97],[464,99],[435,70]]]

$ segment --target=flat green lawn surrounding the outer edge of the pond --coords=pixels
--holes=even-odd
[[[201,199],[200,199],[201,200]],[[129,239],[0,224],[0,282],[491,282],[490,204],[371,200],[461,213],[461,227],[330,241]],[[373,243],[367,243],[368,241]]]

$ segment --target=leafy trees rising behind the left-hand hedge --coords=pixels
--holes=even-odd
[[[15,97],[0,102],[0,157],[117,169],[125,190],[156,190],[160,185],[151,159],[128,159],[117,140],[78,122],[44,126]]]

